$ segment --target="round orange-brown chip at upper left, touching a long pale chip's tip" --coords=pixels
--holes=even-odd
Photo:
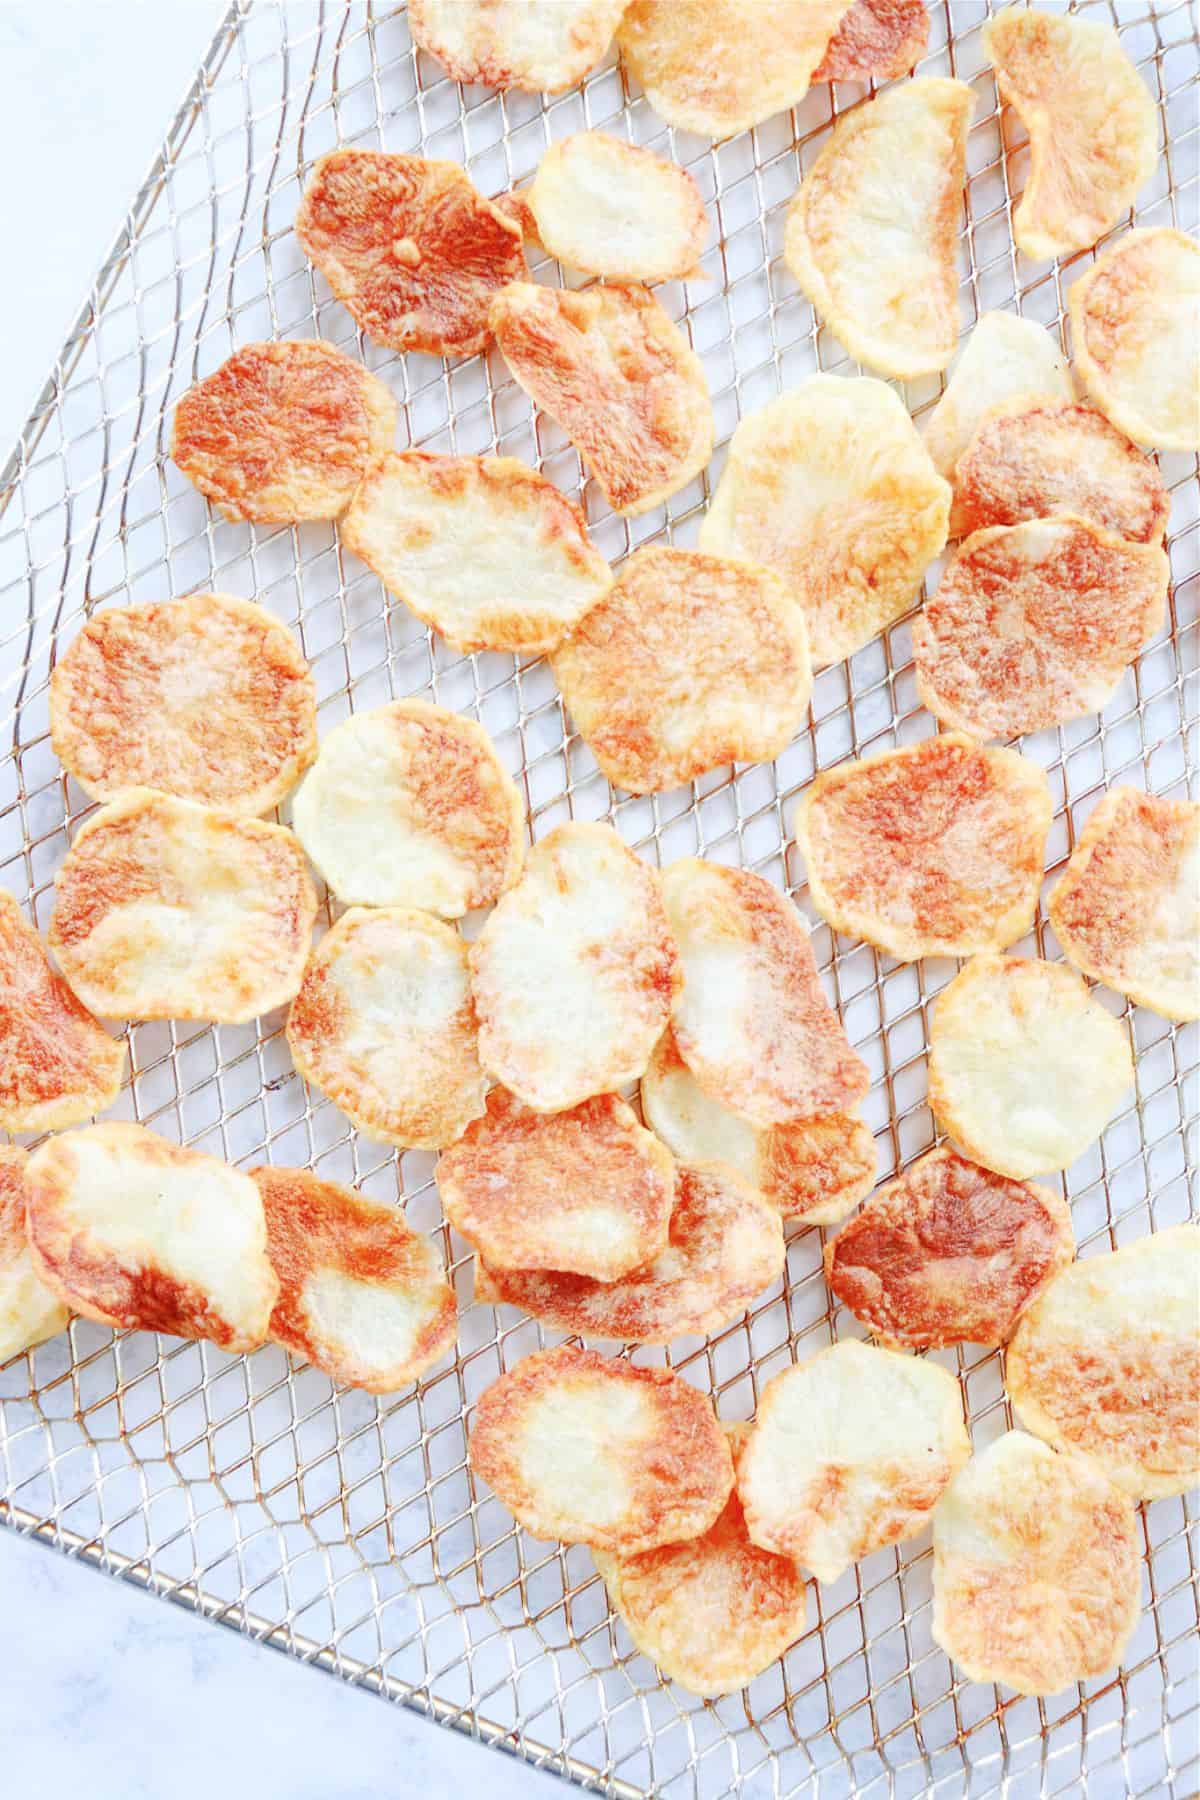
[[[336,518],[396,436],[396,400],[331,344],[246,344],[175,409],[171,457],[225,518]]]

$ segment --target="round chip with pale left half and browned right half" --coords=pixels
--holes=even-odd
[[[322,738],[295,833],[347,905],[462,918],[520,875],[525,808],[473,718],[392,700]]]

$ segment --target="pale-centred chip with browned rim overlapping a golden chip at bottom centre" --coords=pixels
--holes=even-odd
[[[468,1456],[534,1537],[624,1555],[707,1532],[734,1485],[707,1393],[567,1345],[488,1388]]]

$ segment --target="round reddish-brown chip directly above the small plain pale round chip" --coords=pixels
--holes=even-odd
[[[948,731],[824,770],[793,828],[820,916],[916,963],[1029,931],[1051,814],[1036,763]]]

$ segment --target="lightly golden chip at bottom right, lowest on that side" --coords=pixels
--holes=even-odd
[[[934,1512],[934,1638],[968,1681],[1060,1694],[1108,1674],[1141,1586],[1124,1494],[1024,1431],[973,1456]]]

